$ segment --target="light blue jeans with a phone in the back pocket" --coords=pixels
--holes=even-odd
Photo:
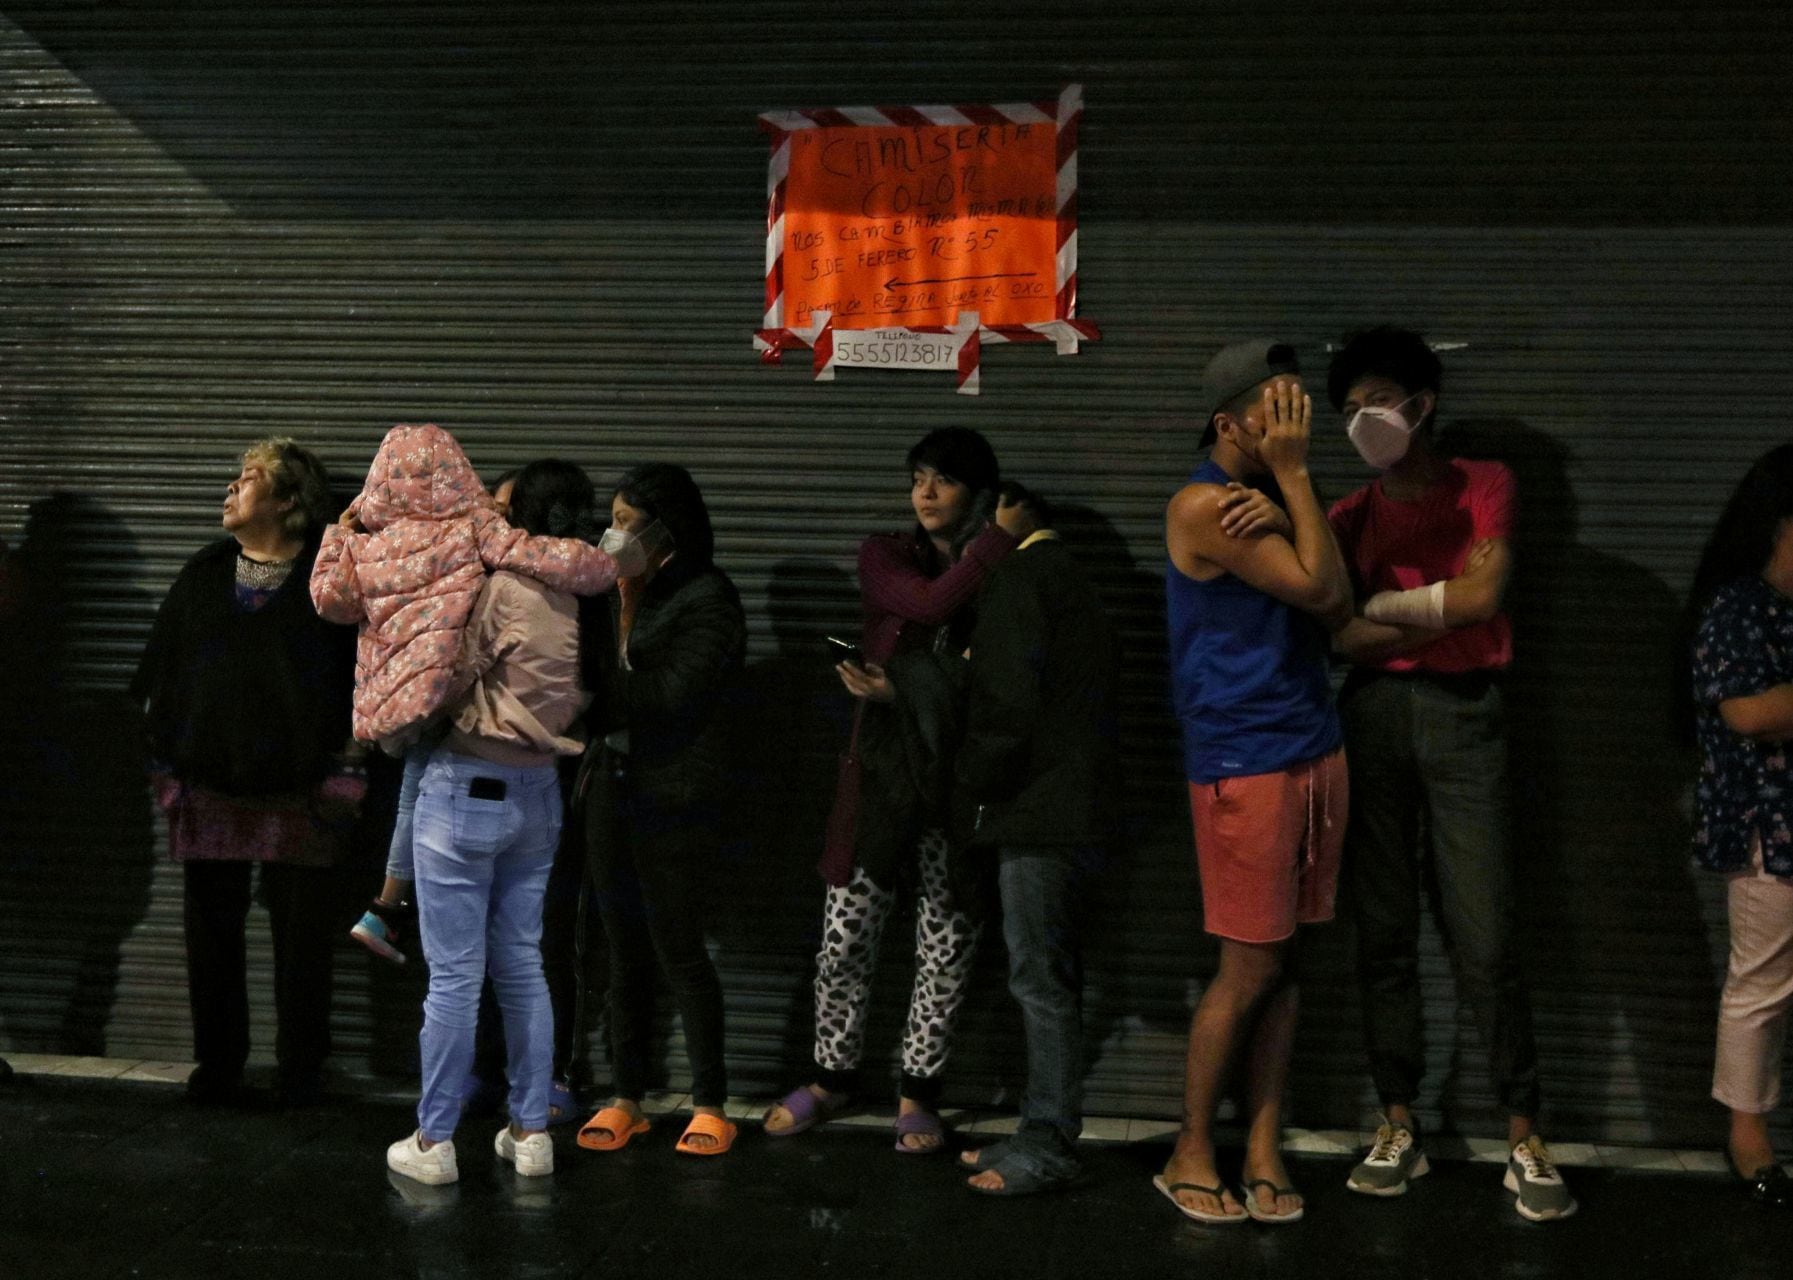
[[[473,794],[500,787],[502,798]],[[432,1142],[454,1137],[473,1065],[479,988],[489,972],[504,1011],[511,1119],[522,1129],[545,1129],[554,1013],[541,973],[541,900],[559,843],[559,774],[552,765],[515,769],[437,749],[418,785],[414,826],[430,966],[418,1126]]]

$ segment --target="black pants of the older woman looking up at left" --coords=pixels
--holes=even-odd
[[[194,1059],[217,1081],[242,1077],[249,1059],[249,982],[244,921],[251,862],[186,862],[186,993]],[[341,921],[333,873],[262,864],[274,934],[274,1061],[283,1086],[317,1083],[330,1054],[330,948]]]

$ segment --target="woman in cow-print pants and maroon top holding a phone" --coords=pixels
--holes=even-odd
[[[862,701],[821,862],[828,898],[816,956],[816,1074],[766,1113],[766,1133],[789,1137],[814,1128],[857,1092],[879,941],[896,902],[895,886],[913,880],[918,887],[916,977],[902,1047],[896,1149],[922,1153],[938,1151],[945,1140],[936,1110],[941,1072],[979,929],[954,909],[945,832],[925,830],[904,850],[900,857],[913,859],[913,866],[866,864],[855,843],[859,730],[868,703],[896,697],[884,670],[891,658],[932,651],[945,654],[943,662],[957,660],[970,635],[970,604],[1015,540],[992,518],[1000,475],[995,452],[975,430],[931,432],[909,450],[907,463],[916,525],[905,534],[875,534],[861,545],[862,658],[839,665],[841,683]]]

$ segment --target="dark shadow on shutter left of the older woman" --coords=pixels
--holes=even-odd
[[[0,988],[0,1042],[27,1052],[106,1052],[120,950],[149,907],[142,714],[111,669],[136,647],[72,644],[143,613],[124,586],[142,568],[124,522],[72,493],[30,504],[0,561],[0,970],[34,975]]]

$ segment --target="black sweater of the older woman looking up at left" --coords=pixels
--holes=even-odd
[[[348,744],[355,629],[312,608],[307,541],[260,610],[237,608],[237,540],[195,554],[156,613],[131,681],[151,749],[183,782],[231,796],[310,792]]]

